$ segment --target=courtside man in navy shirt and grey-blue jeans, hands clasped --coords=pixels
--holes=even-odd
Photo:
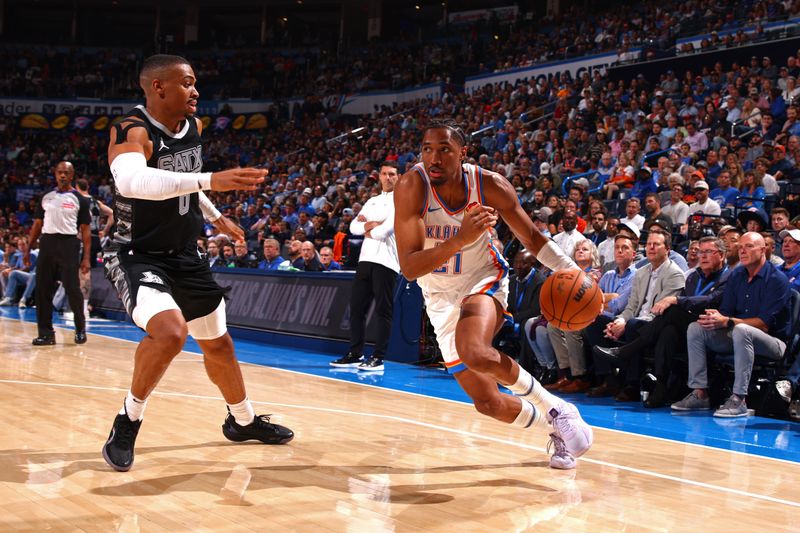
[[[739,240],[739,263],[731,272],[719,309],[706,309],[689,325],[689,388],[686,398],[672,404],[676,411],[711,408],[707,352],[733,352],[733,394],[714,416],[747,416],[747,389],[755,353],[783,357],[789,318],[789,281],[766,256],[766,242],[748,232]]]

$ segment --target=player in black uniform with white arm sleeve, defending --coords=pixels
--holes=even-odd
[[[266,171],[236,168],[201,173],[199,94],[182,57],[147,58],[139,83],[146,105],[111,131],[108,160],[114,176],[115,229],[104,250],[106,275],[133,321],[147,332],[136,349],[133,379],[103,447],[118,471],[133,465],[134,443],[147,397],[192,335],[211,381],[228,404],[222,432],[229,440],[289,442],[294,434],[256,416],[225,324],[225,290],[197,253],[203,214],[218,212],[203,190],[253,191]]]

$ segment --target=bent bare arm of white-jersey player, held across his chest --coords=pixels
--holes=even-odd
[[[461,248],[478,239],[497,218],[493,210],[473,209],[472,216],[464,215],[461,231],[440,246],[425,249],[425,223],[422,208],[425,205],[425,188],[419,174],[404,174],[394,189],[394,235],[400,270],[406,279],[413,281],[430,274]]]

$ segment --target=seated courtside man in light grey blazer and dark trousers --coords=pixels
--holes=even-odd
[[[669,233],[651,228],[647,236],[647,259],[649,264],[636,271],[633,287],[625,309],[614,317],[600,315],[586,328],[586,336],[592,346],[610,346],[623,340],[630,342],[638,336],[638,330],[653,320],[653,305],[667,296],[681,292],[685,284],[683,271],[669,259],[672,237]],[[639,397],[641,353],[628,360],[597,357],[595,374],[603,377],[603,383],[591,389],[589,396],[611,396],[617,401],[636,401]],[[619,390],[620,383],[614,377],[614,368],[625,370],[626,385]],[[623,375],[623,372],[620,372]]]

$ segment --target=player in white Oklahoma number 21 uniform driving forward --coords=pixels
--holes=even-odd
[[[492,245],[498,216],[551,270],[577,268],[537,231],[503,176],[470,164],[454,121],[433,121],[422,162],[395,187],[395,236],[403,275],[417,279],[448,371],[478,412],[550,432],[553,468],[575,468],[592,430],[574,405],[546,391],[513,359],[492,347],[503,324],[508,263]],[[514,395],[501,393],[497,384]]]

